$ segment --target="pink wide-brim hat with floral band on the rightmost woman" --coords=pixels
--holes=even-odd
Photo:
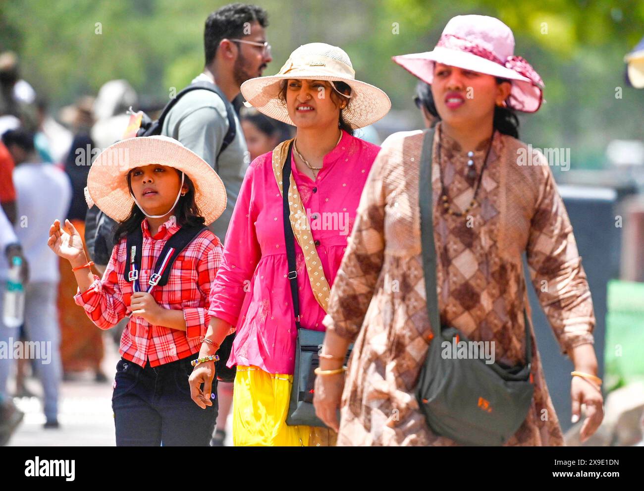
[[[432,51],[394,56],[393,61],[430,85],[434,63],[508,79],[512,90],[507,106],[534,113],[544,100],[544,82],[532,66],[514,52],[512,30],[497,18],[457,15],[447,23]]]

